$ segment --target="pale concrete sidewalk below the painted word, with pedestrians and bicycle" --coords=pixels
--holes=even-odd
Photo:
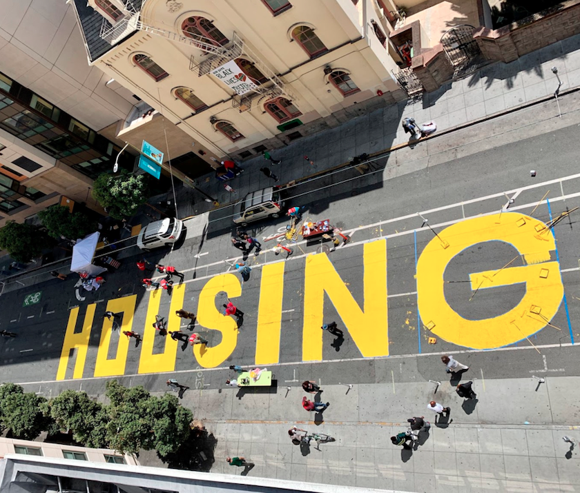
[[[271,370],[276,374],[276,368]],[[439,374],[439,372],[434,372]],[[217,439],[211,472],[239,474],[226,456],[255,463],[251,476],[313,483],[353,485],[409,492],[577,492],[580,461],[563,436],[580,439],[577,407],[579,377],[474,379],[476,401],[465,401],[447,377],[435,385],[376,383],[322,385],[330,402],[322,416],[302,409],[300,386],[286,384],[271,394],[261,390],[193,390],[182,401]],[[394,377],[395,379],[395,377]],[[389,378],[390,380],[390,378]],[[296,385],[296,384],[294,384]],[[451,407],[450,423],[436,423],[427,403]],[[208,419],[204,419],[207,416]],[[407,430],[407,418],[425,416],[415,450],[392,445],[390,437]],[[310,447],[291,443],[292,425],[336,438]]]

